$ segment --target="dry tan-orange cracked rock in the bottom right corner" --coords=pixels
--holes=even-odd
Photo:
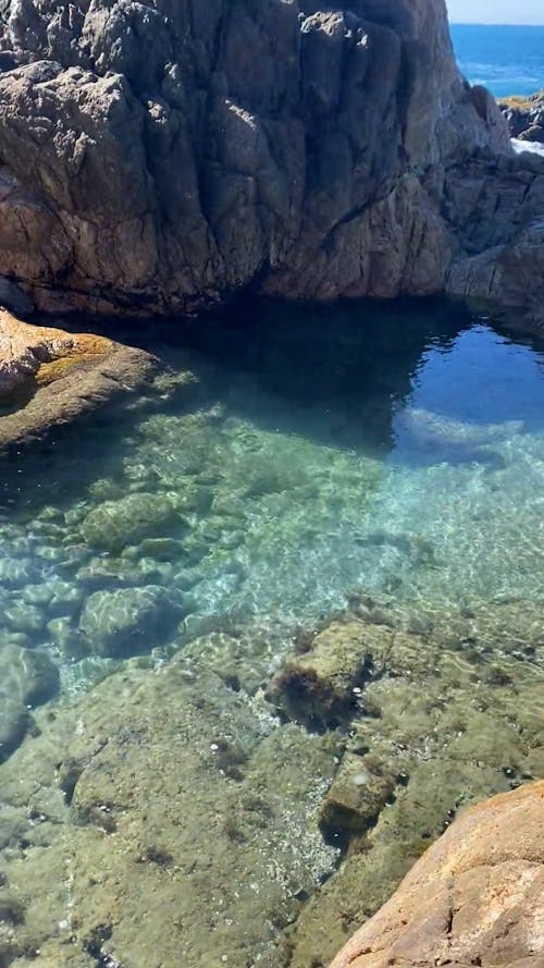
[[[544,963],[544,782],[467,810],[331,968]]]

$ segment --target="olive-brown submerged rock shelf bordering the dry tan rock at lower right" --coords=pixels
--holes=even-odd
[[[320,811],[346,857],[293,926],[289,968],[327,965],[461,807],[544,773],[539,603],[382,611],[388,624],[368,624],[362,652],[347,638],[372,674]],[[407,632],[418,614],[426,632]],[[333,626],[349,633],[348,622]]]

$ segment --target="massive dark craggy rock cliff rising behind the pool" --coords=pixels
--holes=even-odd
[[[518,270],[544,259],[544,161],[459,76],[444,0],[0,11],[0,274],[38,308],[187,311],[252,283],[540,319]]]

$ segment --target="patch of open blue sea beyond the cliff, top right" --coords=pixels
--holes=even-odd
[[[452,24],[459,68],[495,97],[544,88],[544,26]]]

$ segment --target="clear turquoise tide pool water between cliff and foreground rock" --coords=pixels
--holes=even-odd
[[[542,774],[544,347],[443,302],[116,333],[153,385],[2,463],[0,963],[324,966]],[[386,649],[307,731],[271,675],[346,606]]]

